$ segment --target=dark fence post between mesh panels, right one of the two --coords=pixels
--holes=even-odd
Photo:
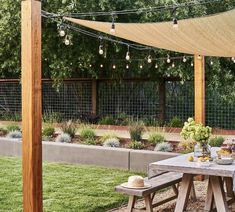
[[[165,121],[165,105],[166,104],[166,83],[162,79],[159,84],[159,119]]]

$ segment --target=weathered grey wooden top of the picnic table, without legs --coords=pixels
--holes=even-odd
[[[212,156],[216,155],[218,148],[212,148]],[[188,157],[193,153],[176,156],[166,160],[158,161],[149,164],[149,177],[159,171],[180,172],[195,175],[212,175],[221,177],[232,177],[235,174],[235,163],[232,165],[218,165],[215,162],[210,162],[209,167],[202,167],[198,162],[188,161]]]

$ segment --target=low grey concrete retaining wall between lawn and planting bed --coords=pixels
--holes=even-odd
[[[0,139],[0,155],[20,157],[22,142]],[[176,153],[108,148],[79,144],[64,144],[43,141],[43,160],[64,163],[80,163],[132,171],[146,172],[148,164],[170,157]]]

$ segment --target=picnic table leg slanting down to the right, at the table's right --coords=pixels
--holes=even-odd
[[[219,212],[227,212],[228,204],[225,198],[223,183],[221,177],[210,176],[212,192],[215,200],[216,209]]]

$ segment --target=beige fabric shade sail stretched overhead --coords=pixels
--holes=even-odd
[[[84,27],[113,35],[111,23],[64,17]],[[235,9],[194,19],[161,23],[115,23],[115,36],[139,44],[185,54],[235,56]]]

